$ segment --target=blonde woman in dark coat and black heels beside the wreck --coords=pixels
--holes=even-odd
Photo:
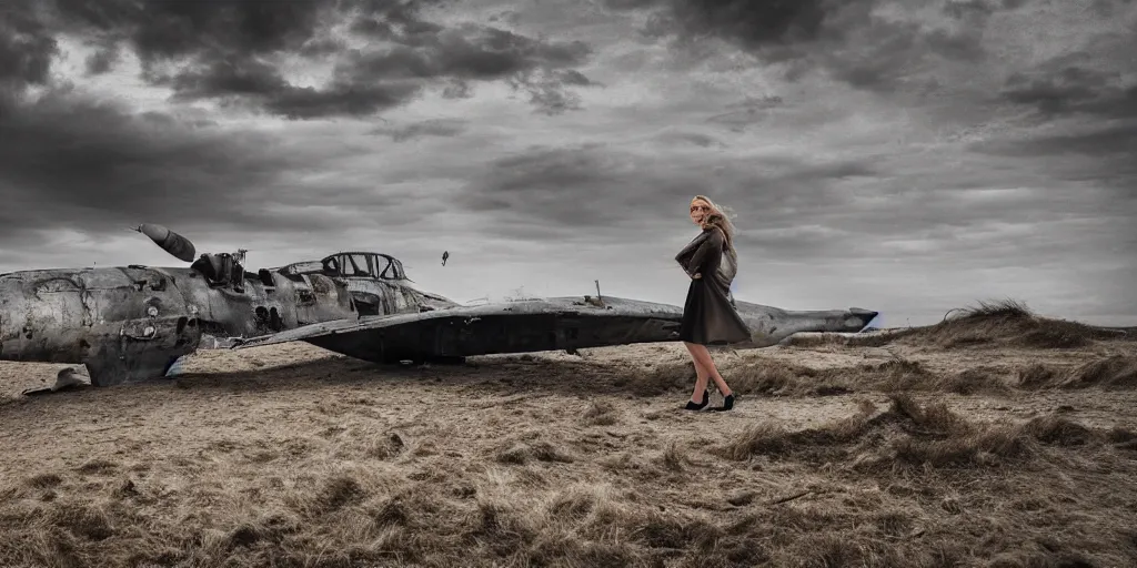
[[[690,216],[691,222],[703,227],[703,232],[675,256],[691,277],[679,339],[691,353],[697,378],[695,393],[684,408],[703,410],[707,406],[711,398],[707,379],[711,378],[723,395],[722,407],[715,410],[730,410],[735,408],[735,394],[715,368],[706,346],[738,343],[750,337],[746,323],[735,310],[735,299],[730,293],[730,283],[738,266],[735,227],[722,209],[705,195],[696,195],[691,200]],[[696,396],[702,400],[696,400]]]

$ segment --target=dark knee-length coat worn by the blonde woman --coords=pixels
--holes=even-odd
[[[717,227],[703,229],[675,256],[675,260],[692,277],[687,289],[687,301],[683,302],[680,341],[722,345],[749,340],[750,331],[735,309],[735,299],[730,293],[737,262],[727,250],[722,231]],[[696,274],[702,277],[695,278]]]

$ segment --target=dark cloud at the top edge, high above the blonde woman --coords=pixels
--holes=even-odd
[[[823,73],[857,89],[889,92],[935,84],[941,62],[984,60],[990,17],[1013,9],[984,0],[914,5],[890,0],[608,0],[616,11],[648,12],[644,32],[686,49],[723,39],[796,80]],[[714,53],[715,51],[711,51]],[[711,56],[715,57],[715,56]]]

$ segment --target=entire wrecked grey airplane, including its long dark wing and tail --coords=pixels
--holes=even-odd
[[[376,252],[246,270],[244,251],[202,253],[159,225],[136,228],[184,268],[24,270],[0,275],[0,359],[85,365],[91,384],[163,377],[198,349],[305,341],[375,361],[678,341],[682,308],[622,298],[550,298],[463,306],[423,292]],[[788,311],[737,302],[752,332],[740,348],[799,332],[860,332],[875,311]],[[73,383],[73,369],[57,390]]]

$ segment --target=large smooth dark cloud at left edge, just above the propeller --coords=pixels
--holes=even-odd
[[[288,191],[281,187],[282,170],[304,157],[268,150],[272,145],[269,135],[47,97],[0,119],[5,197],[16,206],[0,212],[0,234],[50,227],[58,219],[91,231],[136,219],[200,228],[302,223],[305,217],[289,219],[262,207],[313,199],[281,193]]]

